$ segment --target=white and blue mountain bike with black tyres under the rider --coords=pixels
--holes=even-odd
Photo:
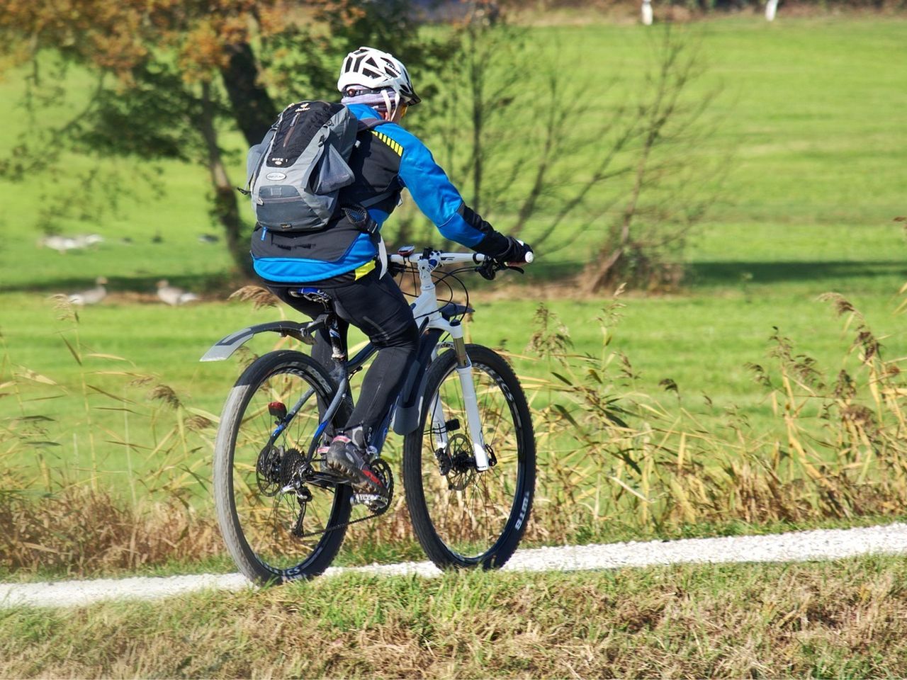
[[[480,254],[416,253],[412,247],[389,260],[395,273],[408,272],[418,282],[411,307],[420,340],[399,397],[367,442],[386,496],[353,491],[318,454],[352,412],[350,376],[377,351],[368,344],[347,356],[323,293],[325,313],[315,320],[250,326],[201,358],[226,359],[258,333],[312,345],[313,334],[327,329],[331,338],[333,367],[292,350],[258,357],[239,376],[220,416],[215,506],[229,553],[252,581],[317,576],[336,557],[347,527],[385,513],[394,474],[381,452],[392,429],[404,436],[403,481],[414,533],[435,565],[500,568],[522,539],[535,488],[532,418],[510,364],[464,341],[463,318],[473,308],[459,276],[473,271],[493,278],[516,267]],[[451,281],[463,288],[465,304],[453,302],[453,295],[439,302],[437,286],[453,293]],[[308,299],[319,292],[299,290],[314,296]]]

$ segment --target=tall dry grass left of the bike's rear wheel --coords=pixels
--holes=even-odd
[[[0,335],[0,569],[85,575],[218,553],[216,523],[192,502],[208,487],[217,416],[83,346],[77,311],[54,305],[75,384],[15,364]],[[122,450],[122,471],[102,470],[102,446]]]

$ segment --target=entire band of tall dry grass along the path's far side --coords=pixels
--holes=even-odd
[[[245,297],[260,302],[249,291]],[[540,455],[528,539],[607,539],[614,526],[624,535],[648,534],[699,523],[901,511],[902,359],[884,357],[878,336],[842,296],[825,300],[853,339],[844,369],[798,354],[776,332],[767,361],[749,365],[773,416],[758,427],[735,408],[718,415],[688,410],[671,381],[657,395],[640,392],[629,358],[610,348],[619,296],[598,317],[602,343],[594,355],[576,352],[569,328],[540,306],[527,354],[546,369],[541,377],[522,376]],[[74,386],[14,364],[0,336],[0,568],[85,575],[218,554],[207,499],[218,417],[126,359],[89,351],[74,310],[65,300],[57,304],[72,322],[64,342],[79,365]],[[59,399],[81,404],[79,422],[55,418]],[[122,448],[125,470],[101,470],[102,442]],[[399,443],[392,439],[385,449],[397,470]],[[81,464],[72,462],[76,456]],[[137,474],[147,460],[155,461],[153,471]],[[402,489],[392,509],[356,525],[350,541],[370,546],[368,554],[375,546],[413,554]]]

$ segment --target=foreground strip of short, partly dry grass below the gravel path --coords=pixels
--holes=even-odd
[[[0,675],[902,676],[905,570],[903,559],[869,558],[345,576],[3,610]]]

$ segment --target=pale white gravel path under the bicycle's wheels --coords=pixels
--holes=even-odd
[[[863,529],[793,531],[770,536],[525,549],[517,551],[504,569],[572,571],[678,563],[788,562],[868,554],[907,554],[907,524]],[[346,573],[434,577],[441,572],[431,562],[403,562],[369,567],[329,568],[326,576]],[[0,607],[77,607],[116,597],[154,599],[208,588],[239,590],[250,587],[249,581],[239,574],[5,583],[0,584]]]

